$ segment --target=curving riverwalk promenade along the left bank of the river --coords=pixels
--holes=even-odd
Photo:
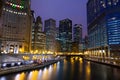
[[[22,66],[11,67],[11,68],[4,68],[4,69],[0,70],[0,76],[10,74],[10,73],[16,73],[16,72],[40,69],[40,68],[46,67],[48,65],[54,64],[54,63],[56,63],[58,61],[60,61],[60,59],[59,60],[52,60],[52,61],[44,62],[42,64],[30,64],[30,65],[22,65]]]

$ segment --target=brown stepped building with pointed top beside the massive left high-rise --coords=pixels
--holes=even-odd
[[[46,49],[46,35],[42,29],[42,20],[41,17],[38,16],[32,27],[32,51],[34,53],[42,53]]]

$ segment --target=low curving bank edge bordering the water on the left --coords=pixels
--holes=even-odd
[[[22,72],[22,71],[29,71],[29,70],[44,68],[44,67],[49,66],[51,64],[57,63],[58,61],[60,61],[60,60],[49,61],[49,62],[46,62],[42,65],[32,65],[32,66],[27,66],[27,67],[26,66],[16,67],[14,69],[10,68],[9,70],[0,71],[0,76],[4,76],[4,75],[7,75],[7,74],[12,74],[12,73],[18,73],[18,72]]]

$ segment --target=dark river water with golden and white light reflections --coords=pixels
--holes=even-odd
[[[120,69],[69,58],[39,70],[1,76],[0,80],[120,80]]]

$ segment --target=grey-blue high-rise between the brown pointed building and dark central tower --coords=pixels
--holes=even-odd
[[[45,20],[44,31],[46,33],[46,50],[55,52],[56,21],[52,18]]]

